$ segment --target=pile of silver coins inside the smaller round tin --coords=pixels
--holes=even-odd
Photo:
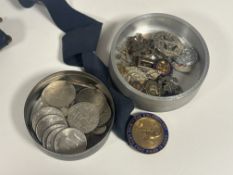
[[[83,152],[88,137],[103,135],[111,119],[105,95],[95,86],[58,80],[47,85],[31,112],[31,127],[44,148]]]

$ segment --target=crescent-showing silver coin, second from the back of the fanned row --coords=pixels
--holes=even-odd
[[[55,124],[67,125],[67,122],[64,117],[59,115],[48,115],[38,122],[36,125],[36,135],[40,142],[42,141],[45,130],[48,129],[51,125]]]

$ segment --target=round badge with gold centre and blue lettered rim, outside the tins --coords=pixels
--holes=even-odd
[[[130,119],[126,136],[131,147],[145,154],[153,154],[166,146],[168,129],[158,116],[139,113]]]

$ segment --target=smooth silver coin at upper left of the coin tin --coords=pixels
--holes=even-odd
[[[50,83],[42,92],[42,100],[54,107],[68,107],[76,96],[75,87],[67,81]]]

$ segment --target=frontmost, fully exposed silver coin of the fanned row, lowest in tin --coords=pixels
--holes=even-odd
[[[63,129],[56,135],[54,150],[57,153],[75,154],[86,150],[86,136],[75,128]]]

